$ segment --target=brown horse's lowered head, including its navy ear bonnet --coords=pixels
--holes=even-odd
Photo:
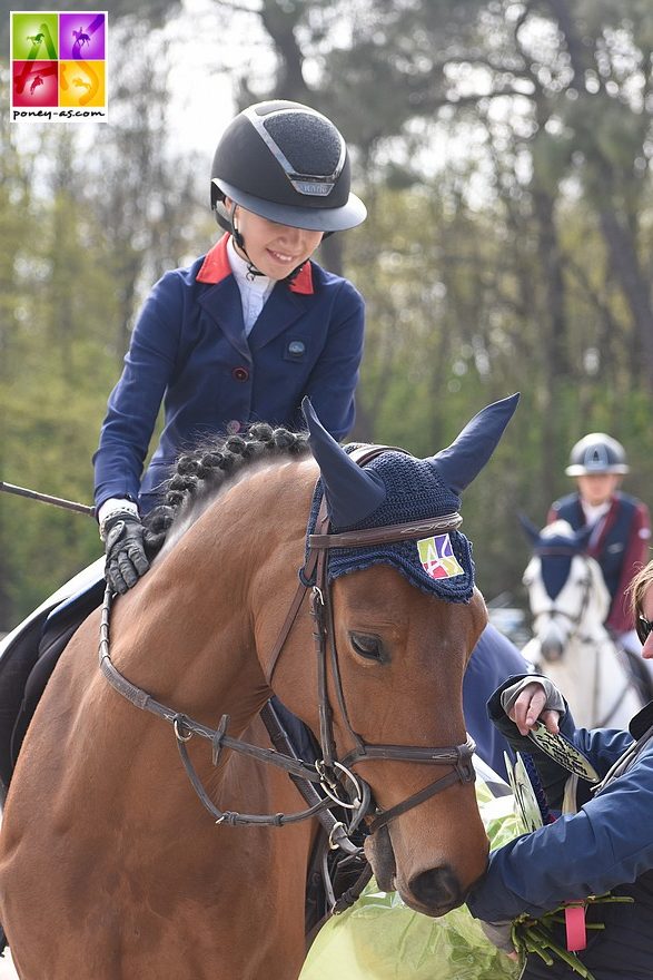
[[[457,511],[516,402],[488,406],[426,460],[379,447],[347,452],[305,406],[320,480],[303,575],[317,577],[328,706],[319,712],[309,693],[320,668],[305,639],[299,661],[279,657],[274,687],[323,753],[333,738],[342,765],[369,784],[366,851],[379,884],[431,915],[464,901],[487,856],[462,712],[486,612]]]

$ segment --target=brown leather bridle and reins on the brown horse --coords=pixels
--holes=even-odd
[[[353,458],[359,465],[364,465],[382,452],[397,450],[395,447],[375,445],[362,447],[352,452]],[[297,823],[313,816],[319,816],[324,811],[333,807],[345,808],[352,812],[347,821],[347,827],[337,822],[329,834],[329,845],[333,849],[342,847],[352,853],[358,847],[350,842],[349,835],[368,814],[373,817],[368,831],[374,833],[389,821],[406,813],[419,803],[441,793],[456,783],[471,783],[475,780],[475,771],[472,756],[475,749],[474,741],[467,735],[463,745],[447,747],[423,747],[413,745],[383,745],[365,743],[354,731],[347,713],[344,692],[340,683],[337,649],[334,633],[334,614],[332,604],[330,585],[328,581],[328,552],[332,548],[356,548],[377,543],[388,543],[403,540],[417,540],[418,538],[456,530],[462,523],[459,513],[448,513],[438,518],[409,521],[406,523],[388,525],[382,528],[370,528],[362,531],[329,531],[329,518],[326,499],[323,497],[321,506],[316,521],[316,532],[308,536],[308,555],[304,567],[299,571],[299,585],[290,608],[281,626],[277,640],[273,647],[269,665],[267,667],[267,682],[271,683],[275,668],[284,650],[286,639],[307,592],[310,591],[310,614],[314,619],[314,638],[318,665],[318,698],[319,698],[319,743],[321,758],[314,765],[294,757],[287,752],[270,748],[261,748],[235,738],[227,734],[229,716],[222,715],[217,728],[210,728],[194,721],[188,715],[176,712],[160,704],[142,688],[128,680],[112,664],[110,657],[109,619],[111,609],[111,590],[107,587],[102,604],[100,623],[99,665],[102,674],[111,686],[126,697],[136,707],[148,710],[159,718],[172,725],[177,747],[184,763],[188,778],[197,793],[202,805],[214,817],[216,824],[230,826],[283,826]],[[328,670],[336,690],[338,707],[347,732],[354,742],[355,748],[343,759],[337,758],[335,736],[333,731],[333,712],[328,698]],[[264,708],[265,710],[265,708]],[[250,814],[234,811],[221,811],[209,798],[201,780],[190,761],[186,743],[194,736],[199,736],[211,743],[212,763],[217,765],[222,748],[247,755],[258,762],[268,763],[285,770],[294,781],[308,781],[310,784],[319,784],[324,796],[316,794],[314,790],[308,794],[309,798],[316,800],[313,805],[295,813],[276,814]],[[386,811],[373,808],[370,804],[369,786],[359,776],[352,772],[352,766],[368,759],[392,759],[396,762],[423,763],[451,767],[451,772],[412,796]],[[305,797],[307,794],[304,794]]]

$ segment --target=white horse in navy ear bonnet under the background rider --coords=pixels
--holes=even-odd
[[[627,727],[645,697],[627,655],[603,626],[610,592],[598,564],[583,550],[586,529],[555,521],[538,531],[523,523],[535,550],[523,579],[534,636],[522,653],[560,688],[577,725]]]

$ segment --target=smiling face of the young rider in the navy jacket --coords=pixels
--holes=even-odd
[[[227,198],[225,204],[231,213],[231,200]],[[276,222],[261,218],[240,205],[236,206],[234,220],[245,241],[249,261],[270,280],[285,278],[306,262],[321,242],[321,232],[277,225]],[[237,251],[243,254],[238,247]]]

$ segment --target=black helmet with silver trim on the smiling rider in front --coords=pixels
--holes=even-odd
[[[218,144],[211,207],[228,231],[225,197],[281,225],[343,232],[367,215],[350,183],[347,146],[326,116],[299,102],[258,102],[236,116]]]

